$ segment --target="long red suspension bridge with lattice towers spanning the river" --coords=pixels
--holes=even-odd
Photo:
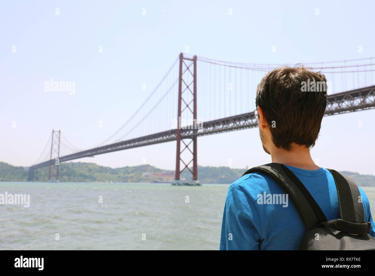
[[[324,116],[375,108],[374,61],[370,57],[304,63],[327,77]],[[40,167],[49,166],[49,180],[51,170],[58,180],[60,162],[176,141],[174,184],[198,185],[197,137],[258,127],[254,116],[257,84],[280,65],[225,62],[180,53],[133,115],[98,145],[79,149],[61,131],[52,130],[42,154],[29,167],[28,180],[33,181]],[[185,169],[192,173],[192,181],[180,180]]]

